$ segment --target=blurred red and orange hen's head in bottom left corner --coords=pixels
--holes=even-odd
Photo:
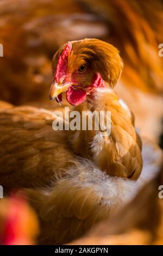
[[[21,196],[0,199],[0,245],[34,245],[39,224]]]

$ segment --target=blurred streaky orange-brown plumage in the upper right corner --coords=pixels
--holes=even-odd
[[[78,0],[108,26],[108,41],[124,59],[122,81],[129,89],[162,93],[162,58],[158,45],[162,42],[162,1],[152,0]],[[151,56],[151,58],[149,58]]]

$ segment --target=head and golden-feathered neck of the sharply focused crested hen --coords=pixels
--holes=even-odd
[[[82,129],[69,132],[74,153],[90,157],[110,175],[137,179],[142,169],[141,140],[134,129],[134,118],[112,88],[122,71],[117,49],[98,39],[68,42],[54,54],[51,99],[66,99],[82,115],[86,111],[111,112],[111,133]]]

